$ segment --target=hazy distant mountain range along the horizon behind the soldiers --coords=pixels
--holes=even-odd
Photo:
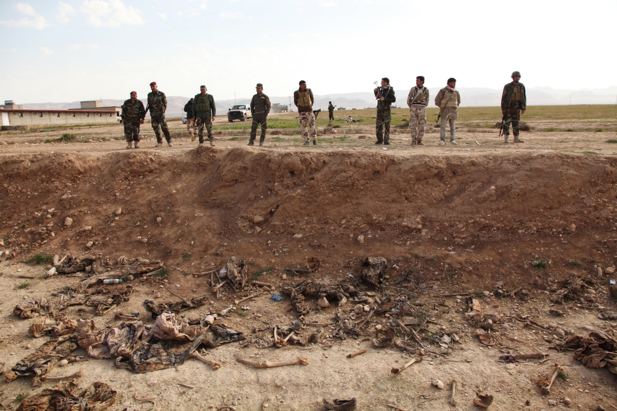
[[[431,91],[431,100],[437,94],[441,87],[428,87]],[[491,107],[498,106],[501,101],[501,90],[481,88],[481,87],[460,87],[458,91],[461,94],[461,105],[463,107]],[[397,107],[407,107],[408,90],[395,90],[397,96]],[[293,98],[293,97],[292,97]],[[617,86],[610,86],[605,89],[579,89],[579,90],[562,90],[553,89],[551,87],[532,87],[527,89],[527,104],[528,105],[568,105],[568,104],[616,104]],[[178,117],[183,115],[184,104],[188,102],[188,97],[167,96],[167,117]],[[144,101],[144,100],[143,100]],[[280,103],[289,105],[289,97],[270,97],[272,103]],[[375,108],[375,97],[372,92],[354,92],[342,94],[315,94],[315,110],[321,108],[326,110],[328,102],[331,101],[337,107],[345,107],[348,110],[352,108]],[[120,106],[124,100],[102,100],[103,106]],[[229,108],[234,104],[249,104],[251,98],[242,98],[237,100],[216,100],[217,114],[224,115]],[[19,104],[19,102],[17,102]],[[144,104],[146,102],[144,101]],[[23,104],[23,108],[33,110],[67,110],[68,108],[79,108],[80,102],[71,103],[27,103]],[[429,107],[433,107],[433,101]],[[296,110],[293,100],[291,108]]]

